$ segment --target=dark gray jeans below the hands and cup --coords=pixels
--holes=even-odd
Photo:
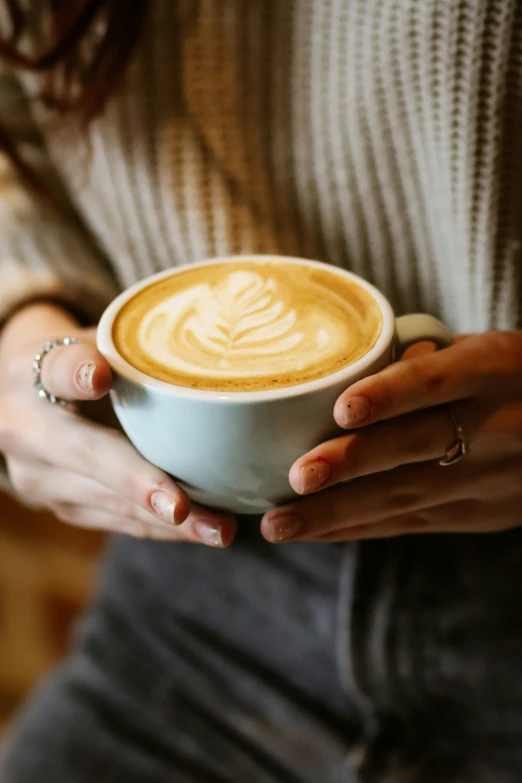
[[[241,531],[224,552],[114,539],[1,783],[520,783],[518,531]]]

